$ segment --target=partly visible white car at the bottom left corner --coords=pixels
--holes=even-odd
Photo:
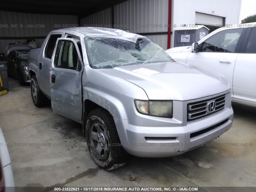
[[[14,192],[14,179],[7,144],[0,128],[0,192],[2,191]]]

